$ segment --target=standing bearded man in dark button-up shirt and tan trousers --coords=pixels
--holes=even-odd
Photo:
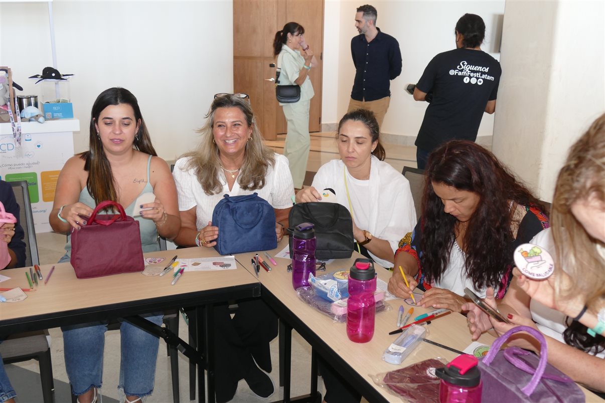
[[[359,35],[351,40],[355,82],[348,111],[364,108],[376,115],[382,128],[391,100],[390,80],[401,74],[401,51],[394,37],[376,28],[376,8],[362,5],[355,15]]]

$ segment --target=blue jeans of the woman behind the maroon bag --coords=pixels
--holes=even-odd
[[[68,262],[65,254],[59,263]],[[158,326],[162,314],[141,315]],[[74,395],[83,395],[91,387],[100,388],[103,375],[103,349],[105,347],[106,322],[93,322],[63,326],[65,369],[70,378]],[[120,324],[120,384],[126,396],[151,395],[155,379],[155,361],[160,339],[133,326]]]

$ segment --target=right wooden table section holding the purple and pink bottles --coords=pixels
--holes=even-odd
[[[261,268],[259,273],[259,280],[262,285],[261,297],[269,306],[275,309],[283,320],[311,344],[316,353],[329,359],[336,371],[344,375],[345,378],[350,379],[350,384],[355,385],[357,390],[368,401],[401,401],[400,398],[391,395],[383,388],[374,384],[371,375],[392,371],[429,358],[442,357],[446,361],[451,361],[451,359],[456,358],[458,355],[441,347],[423,342],[400,366],[383,361],[382,354],[384,350],[399,336],[399,334],[388,334],[397,328],[399,306],[403,305],[405,312],[410,308],[400,298],[387,302],[392,308],[390,311],[380,312],[376,315],[374,337],[371,341],[359,344],[348,340],[346,325],[344,323],[335,323],[331,318],[315,311],[315,309],[311,308],[296,295],[296,291],[292,287],[292,274],[286,270],[290,260],[275,257],[286,245],[287,239],[284,237],[278,248],[269,251],[269,254],[275,258],[278,265],[271,265],[273,270],[270,272],[266,272]],[[250,265],[250,259],[253,256],[253,253],[238,254],[236,255],[236,259],[241,265],[249,269],[250,272],[253,272]],[[351,259],[335,260],[328,266],[326,272],[349,269],[353,265],[356,256],[359,257],[360,255],[354,252]],[[261,257],[264,258],[264,254]],[[391,272],[377,264],[374,264],[374,268],[378,273],[378,278],[388,282]],[[318,272],[319,274],[321,272]],[[414,307],[412,319],[417,315],[429,311],[433,311],[433,309]],[[436,341],[460,351],[464,350],[472,342],[466,318],[459,313],[452,312],[438,318],[432,321],[427,326],[427,329],[428,340]],[[494,337],[489,334],[483,334],[478,341],[491,345]],[[286,378],[289,378],[289,376],[286,376]],[[289,394],[286,395],[285,388],[287,381],[289,379],[284,381],[284,402],[289,398]],[[313,379],[313,374],[312,382],[316,382],[316,377]],[[584,388],[583,390],[586,393],[587,399],[592,399],[593,401],[595,398],[598,399],[593,393]]]

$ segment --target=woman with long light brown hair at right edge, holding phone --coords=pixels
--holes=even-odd
[[[605,115],[572,146],[555,185],[552,227],[531,243],[554,255],[554,273],[531,280],[515,268],[499,303],[488,289],[486,301],[512,324],[490,320],[473,304],[463,306],[473,339],[492,327],[497,335],[518,325],[534,327],[545,335],[550,364],[605,392]],[[540,354],[527,335],[509,344]]]

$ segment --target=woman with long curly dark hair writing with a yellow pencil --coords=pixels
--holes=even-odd
[[[468,287],[502,298],[512,275],[512,252],[548,228],[543,206],[495,156],[472,141],[453,140],[431,153],[422,214],[399,242],[388,291],[407,298],[420,286],[427,308],[461,312]]]

